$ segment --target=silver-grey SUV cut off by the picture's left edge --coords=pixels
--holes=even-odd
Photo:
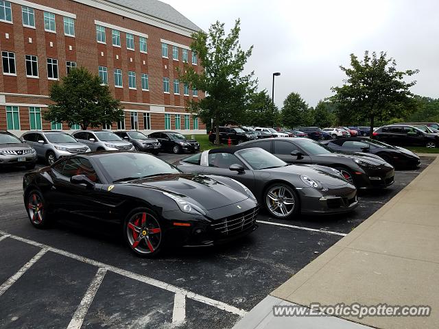
[[[34,169],[36,160],[35,149],[14,134],[0,130],[0,168],[24,166],[26,169]]]

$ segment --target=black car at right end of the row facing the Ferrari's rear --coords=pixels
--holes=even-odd
[[[171,151],[175,154],[200,151],[200,143],[194,139],[187,139],[185,135],[179,132],[153,132],[148,137],[156,138],[160,142],[163,151]]]

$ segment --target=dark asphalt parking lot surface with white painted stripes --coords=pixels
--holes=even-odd
[[[174,162],[181,156],[161,156]],[[119,236],[62,219],[32,227],[24,170],[0,171],[0,328],[231,328],[258,302],[377,211],[428,166],[360,191],[348,215],[281,221],[261,212],[250,236],[149,260]],[[41,166],[39,166],[41,167]]]

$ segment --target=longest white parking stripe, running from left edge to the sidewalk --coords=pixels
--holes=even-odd
[[[0,234],[8,234],[8,232],[0,231]],[[242,310],[241,308],[231,306],[231,305],[226,304],[224,302],[219,302],[218,300],[213,300],[213,299],[206,297],[206,296],[203,296],[203,295],[198,295],[198,293],[193,293],[191,291],[176,287],[172,284],[168,284],[168,283],[163,282],[163,281],[149,278],[147,276],[142,276],[142,275],[137,274],[137,273],[132,273],[130,271],[126,271],[125,269],[120,269],[119,267],[114,267],[112,265],[101,263],[101,262],[98,262],[97,260],[86,258],[84,256],[79,256],[77,254],[72,254],[71,252],[66,252],[65,250],[62,250],[62,249],[57,249],[54,247],[50,247],[49,245],[44,245],[43,243],[39,243],[36,241],[22,238],[21,236],[16,236],[16,235],[10,234],[10,239],[15,239],[15,240],[18,240],[18,241],[21,241],[24,243],[28,243],[29,245],[35,245],[37,247],[45,248],[45,249],[47,249],[47,251],[55,252],[56,254],[60,254],[62,256],[66,256],[69,258],[73,258],[75,260],[79,260],[80,262],[90,264],[90,265],[93,265],[96,267],[104,267],[104,269],[107,269],[108,271],[112,271],[112,272],[115,272],[117,274],[120,274],[121,276],[126,276],[127,278],[131,278],[131,279],[134,279],[134,280],[146,283],[146,284],[150,284],[154,287],[165,289],[165,290],[171,291],[173,293],[181,293],[182,295],[185,295],[187,298],[190,298],[191,300],[196,300],[198,302],[202,302],[204,304],[214,306],[216,308],[219,308],[220,310],[226,310],[226,312],[233,313],[233,314],[239,315],[241,317],[244,317],[244,315],[247,314],[246,310]]]

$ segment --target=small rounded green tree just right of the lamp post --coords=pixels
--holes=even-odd
[[[285,101],[283,101],[281,116],[283,125],[290,129],[311,125],[313,121],[312,112],[308,104],[305,103],[298,93],[289,94]]]

